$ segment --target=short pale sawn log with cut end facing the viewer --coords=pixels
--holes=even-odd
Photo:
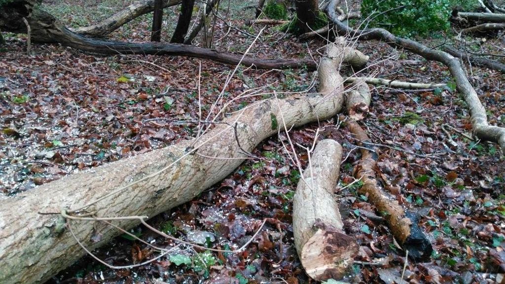
[[[294,245],[307,275],[317,281],[342,278],[358,254],[356,240],[343,232],[333,192],[341,158],[337,141],[319,141],[293,198]]]

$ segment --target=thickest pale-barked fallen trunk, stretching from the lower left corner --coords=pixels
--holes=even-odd
[[[336,72],[321,76],[326,78],[323,82],[339,77]],[[242,151],[251,151],[278,132],[273,118],[280,121],[282,117],[290,128],[337,114],[343,101],[341,79],[339,82],[323,83],[322,93],[252,104],[198,139],[72,174],[1,200],[0,282],[41,283],[84,254],[65,230],[62,216],[37,212],[69,208],[68,212],[84,210],[97,217],[155,216],[226,177],[247,157]],[[138,219],[129,219],[116,225],[129,229],[138,223]],[[72,230],[89,249],[121,233],[102,223],[93,226],[84,221],[72,221]]]

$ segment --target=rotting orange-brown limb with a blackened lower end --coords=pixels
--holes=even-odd
[[[405,210],[393,198],[388,198],[380,190],[375,178],[377,155],[368,151],[367,142],[370,142],[366,132],[355,121],[348,121],[348,127],[354,137],[362,143],[361,160],[354,168],[355,178],[360,178],[363,186],[358,190],[360,195],[376,207],[388,224],[394,238],[399,245],[409,251],[415,259],[427,259],[431,256],[433,248],[417,224],[417,218]]]

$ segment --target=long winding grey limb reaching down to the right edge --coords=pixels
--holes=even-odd
[[[463,96],[463,99],[468,104],[468,107],[470,109],[470,120],[474,134],[479,139],[498,143],[502,151],[505,153],[505,128],[490,126],[488,124],[486,110],[482,106],[479,97],[477,96],[477,92],[473,88],[472,84],[470,84],[468,81],[468,78],[458,58],[455,58],[443,51],[430,49],[428,46],[425,46],[417,41],[394,36],[385,29],[352,29],[337,19],[337,16],[335,15],[336,3],[337,0],[330,1],[327,8],[327,13],[329,18],[335,24],[336,30],[342,35],[345,34],[348,37],[359,40],[382,40],[389,45],[395,47],[399,46],[403,49],[418,54],[427,60],[435,60],[447,66],[449,72],[456,81],[456,86],[459,93],[461,96]]]

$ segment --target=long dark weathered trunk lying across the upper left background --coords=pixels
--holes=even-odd
[[[25,2],[25,1],[19,1]],[[10,6],[9,4],[7,5]],[[13,5],[14,6],[14,5]],[[18,6],[16,6],[18,7]],[[13,8],[10,6],[10,8]],[[15,7],[14,7],[15,8]],[[11,10],[16,12],[16,10]],[[26,11],[19,11],[18,15],[23,15]],[[0,14],[2,16],[2,14]],[[19,16],[11,17],[22,21]],[[5,21],[0,17],[0,28],[5,28],[6,31],[26,32],[26,26],[12,25],[12,19]],[[307,67],[309,70],[316,69],[316,63],[312,60],[281,60],[281,59],[253,59],[249,57],[242,58],[241,55],[231,53],[220,53],[215,50],[197,48],[192,45],[178,43],[132,43],[112,40],[102,40],[88,38],[76,34],[61,24],[52,15],[39,10],[33,9],[29,18],[30,26],[34,41],[38,42],[59,42],[63,45],[71,46],[72,48],[104,55],[115,54],[140,54],[140,55],[172,55],[172,56],[189,56],[203,59],[210,59],[226,64],[243,64],[247,66],[256,66],[257,68],[300,68]],[[11,23],[8,25],[8,23]],[[2,26],[4,24],[4,26]],[[14,27],[13,27],[14,26]]]

